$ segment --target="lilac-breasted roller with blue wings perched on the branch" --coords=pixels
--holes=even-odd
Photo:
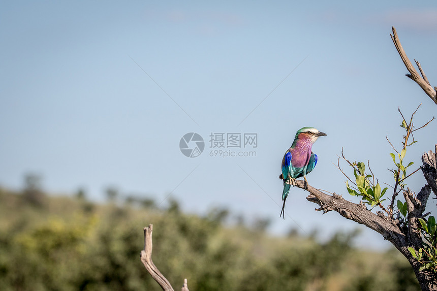
[[[291,179],[303,177],[306,183],[305,186],[308,185],[306,174],[313,171],[317,164],[317,154],[311,151],[311,147],[322,136],[326,136],[326,134],[319,132],[314,127],[302,127],[297,131],[293,144],[286,151],[282,159],[282,174],[279,176],[279,179],[284,180],[284,190],[282,192],[284,204],[279,217],[284,213],[285,219],[285,200],[287,199],[288,192],[290,192]]]

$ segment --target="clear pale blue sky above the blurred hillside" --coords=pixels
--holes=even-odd
[[[314,126],[328,136],[313,147],[311,185],[358,202],[333,165],[341,148],[391,183],[386,135],[400,146],[398,106],[409,116],[423,102],[418,125],[437,106],[404,76],[389,34],[395,26],[436,85],[436,19],[435,2],[2,3],[0,185],[18,189],[32,172],[50,192],[83,187],[103,200],[116,186],[188,212],[268,217],[274,233],[359,227],[361,244],[386,245],[315,212],[301,189],[279,219],[279,164],[295,132]],[[195,158],[179,150],[190,132],[205,140]],[[414,166],[436,132],[432,122],[415,134]],[[211,133],[256,133],[256,156],[211,157]]]

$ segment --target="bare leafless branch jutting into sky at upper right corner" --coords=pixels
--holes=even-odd
[[[390,34],[390,37],[391,37],[391,39],[396,47],[397,52],[400,55],[400,58],[402,59],[403,63],[405,64],[405,67],[410,72],[410,74],[407,74],[407,77],[409,77],[413,81],[415,81],[425,91],[425,93],[432,99],[432,101],[434,101],[434,103],[437,104],[437,91],[436,91],[436,89],[432,88],[432,86],[429,85],[428,80],[425,80],[424,78],[422,78],[419,75],[419,73],[417,73],[416,69],[414,68],[414,66],[411,63],[410,59],[408,58],[407,54],[403,50],[402,45],[400,44],[396,29],[394,27],[392,27],[392,30],[393,30],[393,35]],[[419,70],[421,72],[423,72],[421,67],[419,67]],[[424,75],[425,74],[422,74],[422,76],[424,76]]]

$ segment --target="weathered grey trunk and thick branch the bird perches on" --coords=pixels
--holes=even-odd
[[[435,146],[437,150],[437,145]],[[366,227],[380,233],[384,239],[390,241],[410,262],[416,273],[417,280],[423,291],[437,291],[437,274],[432,271],[420,271],[421,264],[408,250],[409,247],[420,249],[422,247],[422,238],[418,226],[418,218],[423,217],[426,203],[431,189],[437,189],[437,152],[429,151],[422,155],[423,166],[421,167],[423,175],[428,184],[422,187],[419,193],[414,193],[408,189],[404,191],[404,198],[408,205],[409,227],[401,228],[398,219],[392,219],[378,211],[376,214],[368,210],[364,204],[355,204],[345,200],[340,195],[328,195],[310,185],[305,185],[305,181],[295,180],[293,185],[310,192],[306,198],[320,206],[316,211],[336,211],[341,216],[366,225]],[[437,197],[437,191],[433,191]]]

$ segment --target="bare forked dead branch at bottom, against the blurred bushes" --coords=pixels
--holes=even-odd
[[[152,261],[152,231],[153,225],[149,224],[148,227],[144,228],[144,250],[141,251],[140,257],[141,262],[144,267],[146,267],[147,272],[152,276],[155,281],[161,286],[164,291],[174,291],[170,282],[166,277],[158,270],[158,268],[153,264]],[[190,291],[188,289],[188,284],[186,279],[184,279],[181,291]]]

